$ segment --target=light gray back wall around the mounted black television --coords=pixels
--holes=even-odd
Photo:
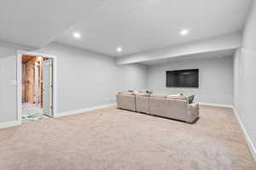
[[[166,88],[166,71],[199,68],[199,88]],[[195,59],[176,61],[148,68],[148,88],[154,94],[195,94],[203,103],[233,104],[233,59]]]

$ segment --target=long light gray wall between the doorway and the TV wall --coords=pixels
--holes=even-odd
[[[146,87],[144,65],[115,65],[115,60],[60,43],[38,50],[57,56],[57,112],[115,102],[121,90]]]

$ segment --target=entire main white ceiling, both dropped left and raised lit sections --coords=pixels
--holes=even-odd
[[[241,31],[251,0],[1,0],[0,40],[111,56]],[[189,29],[181,37],[179,31]],[[82,37],[75,40],[73,31]],[[116,47],[123,52],[117,53]]]

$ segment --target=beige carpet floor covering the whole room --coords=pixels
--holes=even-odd
[[[231,109],[195,124],[108,108],[0,130],[1,170],[253,170]]]

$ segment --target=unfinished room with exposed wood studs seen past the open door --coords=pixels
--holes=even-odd
[[[44,57],[23,55],[22,57],[22,116],[43,116],[44,109]]]

